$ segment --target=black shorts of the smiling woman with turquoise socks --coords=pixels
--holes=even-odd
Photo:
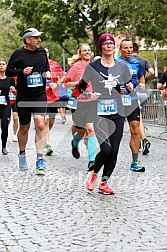
[[[77,109],[72,113],[72,119],[77,128],[86,128],[87,123],[93,123],[94,102],[78,102]]]

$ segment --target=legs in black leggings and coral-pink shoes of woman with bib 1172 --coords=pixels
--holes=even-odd
[[[100,145],[100,152],[96,155],[93,170],[86,181],[86,188],[93,190],[97,179],[97,173],[104,165],[103,175],[99,189],[104,194],[114,194],[114,190],[107,184],[117,161],[119,144],[123,134],[124,118],[114,121],[99,118],[94,123],[96,136]]]

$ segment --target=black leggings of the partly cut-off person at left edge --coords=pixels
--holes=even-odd
[[[2,147],[6,147],[7,138],[8,138],[8,127],[11,116],[11,106],[0,105],[0,119],[1,119],[1,140]]]

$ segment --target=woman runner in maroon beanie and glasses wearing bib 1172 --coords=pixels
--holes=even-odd
[[[94,190],[98,173],[102,166],[103,173],[99,185],[100,192],[114,194],[108,179],[114,171],[120,141],[124,127],[124,107],[122,104],[122,86],[131,84],[131,75],[126,64],[114,60],[115,39],[112,34],[101,34],[98,45],[102,52],[101,59],[88,64],[79,83],[79,92],[85,94],[92,102],[93,125],[100,145],[92,171],[88,174],[86,188]],[[93,93],[86,92],[91,82]],[[123,89],[124,91],[124,89]]]

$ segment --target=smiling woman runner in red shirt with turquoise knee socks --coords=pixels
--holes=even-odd
[[[64,81],[64,85],[67,88],[71,88],[73,90],[71,99],[69,99],[70,107],[72,108],[72,118],[74,121],[74,124],[72,126],[73,139],[71,141],[72,155],[76,159],[80,158],[79,142],[84,138],[86,134],[88,150],[88,170],[91,170],[91,167],[94,164],[97,140],[93,128],[92,118],[89,116],[90,101],[89,99],[86,99],[84,96],[80,95],[80,93],[78,92],[78,83],[90,60],[90,46],[86,43],[79,45],[78,55],[73,56],[72,65]],[[91,85],[88,85],[87,89],[91,91]],[[77,100],[78,96],[80,97]],[[83,113],[81,113],[81,111]]]

